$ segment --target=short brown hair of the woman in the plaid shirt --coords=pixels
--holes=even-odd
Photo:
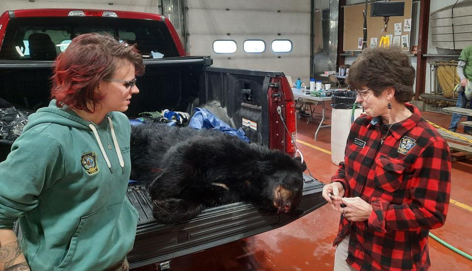
[[[366,86],[375,96],[392,87],[398,102],[409,102],[413,97],[414,77],[410,58],[400,47],[373,47],[354,60],[346,82],[351,89]]]

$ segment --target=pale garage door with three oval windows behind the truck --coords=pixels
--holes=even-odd
[[[189,53],[211,56],[214,66],[282,71],[295,79],[309,78],[309,0],[191,0],[188,1],[187,23]],[[236,51],[215,53],[213,43],[217,40],[236,43],[233,48]],[[245,52],[247,40],[262,40],[265,51]],[[273,52],[274,40],[281,45],[290,41],[292,50]],[[249,43],[261,44],[248,42],[246,45]],[[253,48],[246,47],[247,50]]]

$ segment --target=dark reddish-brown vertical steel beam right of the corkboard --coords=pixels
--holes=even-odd
[[[419,95],[424,93],[426,86],[426,60],[423,56],[428,53],[429,8],[431,0],[421,0],[419,7],[418,54],[416,56],[416,90],[414,99],[419,101]]]

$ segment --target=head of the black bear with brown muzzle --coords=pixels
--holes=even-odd
[[[287,156],[287,155],[284,155]],[[288,159],[287,159],[288,158]],[[263,193],[273,203],[277,213],[292,212],[298,208],[303,192],[303,172],[306,164],[300,157],[286,157],[281,163],[272,163],[270,172],[262,178],[266,183]]]

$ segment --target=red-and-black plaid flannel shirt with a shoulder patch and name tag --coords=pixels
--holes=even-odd
[[[430,229],[444,224],[451,189],[447,143],[411,104],[413,115],[388,130],[380,118],[361,116],[348,137],[345,163],[331,181],[345,197],[372,205],[366,221],[341,215],[333,245],[349,238],[347,263],[357,270],[428,270]]]

